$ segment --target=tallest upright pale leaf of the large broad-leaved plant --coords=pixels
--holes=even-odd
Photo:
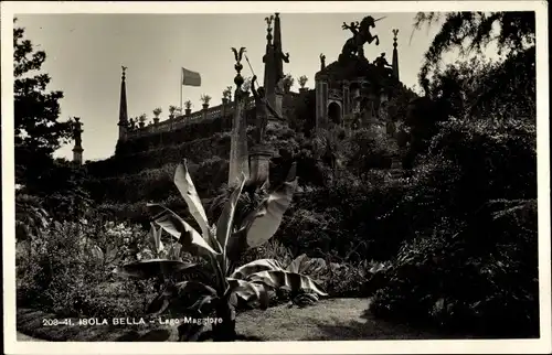
[[[201,204],[201,198],[195,191],[195,186],[193,185],[192,178],[188,172],[187,161],[184,160],[182,163],[178,164],[177,171],[174,172],[174,185],[177,185],[178,191],[182,195],[190,209],[190,214],[198,222],[203,238],[209,238],[209,222],[206,218],[205,211],[203,209],[203,205]]]

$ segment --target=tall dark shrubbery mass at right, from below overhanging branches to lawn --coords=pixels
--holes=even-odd
[[[535,174],[534,122],[442,123],[389,214],[410,230],[372,312],[477,324],[491,336],[538,334]]]

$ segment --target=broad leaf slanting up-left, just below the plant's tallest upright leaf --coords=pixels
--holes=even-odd
[[[174,212],[159,204],[148,204],[148,206],[158,206],[163,209],[163,212],[153,217],[153,222],[162,227],[168,234],[178,238],[184,251],[198,256],[220,255],[220,252],[211,248],[195,229],[185,223],[184,219],[180,218]]]

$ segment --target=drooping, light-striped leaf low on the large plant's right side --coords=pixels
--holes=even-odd
[[[275,289],[285,288],[290,291],[305,290],[318,293],[319,295],[328,295],[309,277],[284,270],[256,272],[247,277],[247,280],[261,282]]]

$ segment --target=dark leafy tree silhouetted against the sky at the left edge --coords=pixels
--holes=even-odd
[[[17,19],[13,20],[17,22]],[[60,122],[62,92],[46,93],[51,77],[36,73],[46,60],[24,37],[24,29],[13,29],[14,152],[17,183],[39,179],[52,163],[52,155],[71,138],[71,123]]]

